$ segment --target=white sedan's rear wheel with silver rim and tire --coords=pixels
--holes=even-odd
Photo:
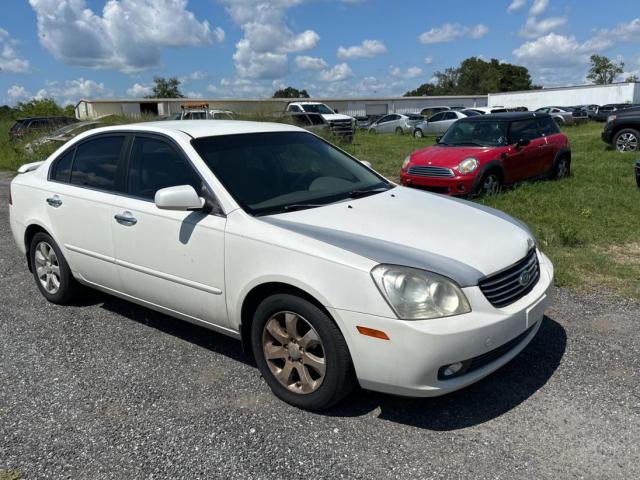
[[[78,284],[58,244],[44,232],[34,235],[29,258],[36,286],[51,303],[64,305],[76,294]]]

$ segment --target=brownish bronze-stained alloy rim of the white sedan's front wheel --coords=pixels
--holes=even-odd
[[[318,332],[301,315],[282,311],[267,320],[262,350],[269,370],[288,390],[308,394],[320,388],[326,362]]]

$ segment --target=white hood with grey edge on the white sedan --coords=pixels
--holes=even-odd
[[[525,224],[499,210],[405,187],[260,220],[463,287],[518,262],[535,245]]]

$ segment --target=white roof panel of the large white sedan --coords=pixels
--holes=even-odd
[[[284,123],[244,122],[239,120],[165,120],[96,128],[90,131],[90,135],[118,130],[156,133],[183,132],[194,138],[241,133],[306,132],[302,128]]]

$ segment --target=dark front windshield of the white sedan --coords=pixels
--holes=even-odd
[[[203,137],[192,144],[253,215],[313,208],[393,188],[358,160],[310,133]]]

